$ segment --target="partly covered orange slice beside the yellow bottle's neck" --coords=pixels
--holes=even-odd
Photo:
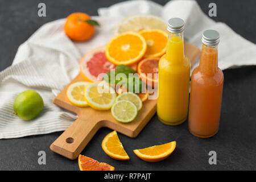
[[[144,57],[160,57],[166,53],[168,34],[163,30],[150,29],[139,32],[146,40],[147,51]]]

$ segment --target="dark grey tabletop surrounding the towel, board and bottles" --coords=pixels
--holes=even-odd
[[[38,3],[46,3],[46,17],[37,15]],[[9,67],[20,44],[25,42],[40,26],[69,14],[81,11],[97,15],[99,7],[108,7],[121,1],[1,1],[0,2],[0,71]],[[168,1],[156,1],[164,5]],[[217,5],[216,21],[230,26],[244,38],[256,43],[255,1],[197,1],[208,14],[208,5]],[[256,57],[255,57],[256,59]],[[242,61],[242,60],[241,60]],[[86,146],[83,155],[106,162],[117,170],[250,170],[256,169],[256,67],[243,67],[224,71],[224,90],[220,130],[209,139],[189,134],[187,121],[180,126],[167,126],[156,115],[132,139],[118,134],[130,156],[128,162],[109,158],[101,148],[101,141],[110,129],[100,129]],[[69,160],[53,153],[49,146],[61,132],[35,135],[18,139],[0,140],[1,170],[79,170],[77,160]],[[153,146],[176,140],[174,153],[158,163],[147,163],[133,153],[136,148]],[[46,151],[46,165],[38,164],[38,152]],[[209,165],[208,152],[217,152],[217,165]]]

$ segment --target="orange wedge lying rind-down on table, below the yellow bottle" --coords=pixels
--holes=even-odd
[[[134,153],[147,162],[159,162],[172,154],[176,147],[176,142],[161,144],[143,149],[134,150]]]

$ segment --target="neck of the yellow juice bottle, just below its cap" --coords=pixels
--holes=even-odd
[[[171,63],[182,63],[184,60],[183,32],[169,33],[166,58]]]

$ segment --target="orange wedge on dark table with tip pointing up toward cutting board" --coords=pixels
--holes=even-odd
[[[130,159],[118,138],[117,131],[115,130],[106,135],[106,137],[102,140],[101,146],[104,152],[110,156],[110,158],[117,160]]]

